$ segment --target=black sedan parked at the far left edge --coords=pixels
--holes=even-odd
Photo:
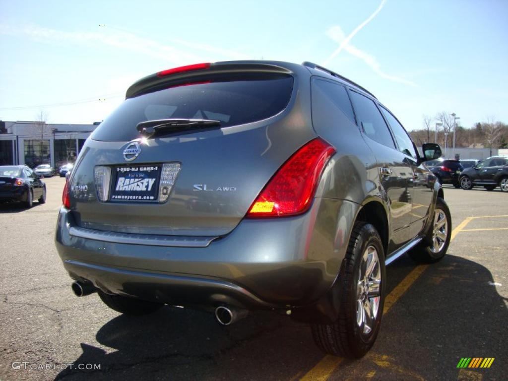
[[[27,166],[0,167],[0,202],[19,201],[31,208],[46,202],[46,184]]]

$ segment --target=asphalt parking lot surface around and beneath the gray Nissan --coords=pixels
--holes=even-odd
[[[2,380],[506,379],[508,195],[499,188],[445,186],[448,255],[430,266],[403,256],[387,268],[381,331],[369,354],[352,361],[323,355],[307,326],[275,313],[222,327],[202,311],[128,317],[97,295],[75,297],[53,243],[65,180],[45,182],[46,204],[0,206]],[[461,358],[494,361],[459,369]],[[50,369],[25,370],[23,362]]]

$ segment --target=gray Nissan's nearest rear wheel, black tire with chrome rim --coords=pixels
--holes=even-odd
[[[374,344],[385,303],[385,252],[372,225],[355,225],[337,281],[338,319],[312,324],[312,337],[330,355],[360,358]]]

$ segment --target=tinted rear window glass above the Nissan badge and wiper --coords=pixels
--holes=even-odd
[[[170,87],[126,99],[91,138],[130,141],[139,137],[139,122],[154,119],[215,119],[221,127],[255,122],[282,111],[292,90],[293,77],[285,75],[246,75],[234,81]]]

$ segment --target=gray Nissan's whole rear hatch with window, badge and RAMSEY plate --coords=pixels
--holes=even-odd
[[[233,62],[168,72],[131,86],[85,143],[70,179],[78,226],[227,234],[277,169],[315,137],[307,88],[288,68]],[[145,136],[137,128],[175,119],[218,122]]]

